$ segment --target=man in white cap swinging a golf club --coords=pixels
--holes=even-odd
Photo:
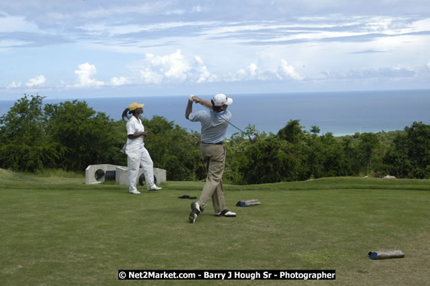
[[[235,217],[236,213],[228,211],[224,202],[224,192],[222,188],[222,174],[226,164],[226,139],[228,122],[231,120],[231,113],[227,110],[233,100],[223,94],[214,95],[211,102],[194,95],[188,97],[185,118],[190,121],[200,121],[202,125],[202,143],[200,152],[204,167],[208,173],[202,194],[198,202],[191,203],[191,213],[189,222],[193,224],[197,216],[202,213],[206,204],[212,198],[213,209],[217,217]],[[200,110],[193,112],[193,102],[203,104],[212,111]]]

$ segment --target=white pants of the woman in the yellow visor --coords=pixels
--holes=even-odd
[[[154,187],[154,163],[152,163],[150,153],[146,148],[143,145],[137,148],[127,146],[126,154],[129,191],[137,191],[136,184],[137,180],[139,180],[139,166],[143,168],[147,189]]]

